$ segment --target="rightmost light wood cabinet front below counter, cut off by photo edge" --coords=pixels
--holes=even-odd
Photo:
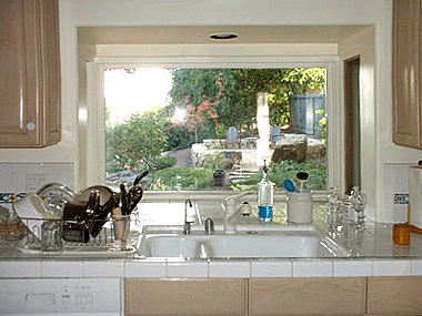
[[[370,277],[369,315],[422,315],[422,277]]]

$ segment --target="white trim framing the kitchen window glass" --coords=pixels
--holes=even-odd
[[[108,69],[130,68],[326,68],[326,113],[329,113],[328,130],[328,184],[344,191],[344,110],[340,98],[342,81],[340,80],[340,61],[336,57],[223,57],[223,58],[135,58],[103,59],[97,58],[87,67],[88,104],[87,104],[87,185],[105,183],[105,143],[104,143],[104,71]],[[221,193],[221,192],[220,192]],[[222,192],[222,195],[233,192]],[[281,192],[280,192],[281,193]],[[220,196],[207,192],[208,196]],[[152,198],[168,200],[168,194],[149,192]],[[185,194],[181,194],[185,195]],[[192,193],[191,193],[192,195]],[[201,192],[195,193],[197,196]],[[281,194],[283,195],[283,194]],[[319,194],[315,194],[318,197]],[[165,197],[167,196],[167,197]],[[177,195],[174,195],[177,196]],[[325,193],[321,193],[324,198]]]

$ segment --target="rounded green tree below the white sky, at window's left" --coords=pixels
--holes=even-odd
[[[149,170],[155,166],[167,143],[165,115],[158,109],[132,114],[128,121],[107,129],[107,164],[112,169]]]

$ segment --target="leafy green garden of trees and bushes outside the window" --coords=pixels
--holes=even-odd
[[[259,137],[257,93],[262,91],[268,93],[270,126],[279,126],[282,134],[307,135],[307,131],[293,131],[292,115],[297,112],[292,111],[293,99],[310,93],[324,95],[325,91],[325,69],[315,68],[177,69],[171,70],[171,75],[169,104],[133,113],[118,124],[107,120],[108,184],[133,181],[137,173],[149,170],[147,190],[251,190],[262,177],[258,166],[248,176],[221,185],[215,181],[215,171],[230,173],[235,167],[224,165],[221,155],[195,165],[192,159],[178,162],[172,153],[189,151],[204,140],[227,140],[229,128],[235,128],[240,140]],[[324,141],[324,108],[314,112],[319,115],[318,134],[307,137]],[[274,144],[272,140],[269,146]],[[326,188],[324,157],[270,161],[269,177],[277,187],[281,187],[284,179],[294,179],[298,172],[310,174],[310,188]]]

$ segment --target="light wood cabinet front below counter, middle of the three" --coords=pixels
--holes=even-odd
[[[251,279],[250,315],[363,315],[365,278]]]

